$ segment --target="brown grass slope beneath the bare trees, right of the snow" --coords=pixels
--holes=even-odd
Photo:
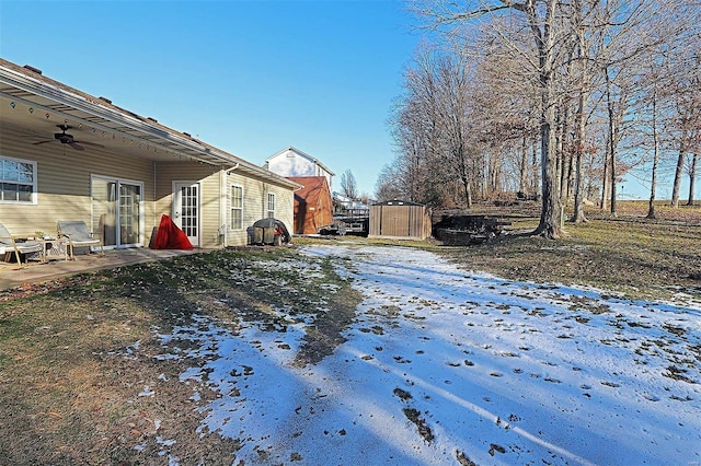
[[[530,217],[532,207],[528,212],[499,210],[513,221],[506,236],[438,249],[464,268],[510,280],[593,286],[644,299],[701,293],[701,206],[671,209],[659,202],[655,220],[645,219],[642,201],[620,202],[616,218],[590,208],[590,220],[566,222],[558,241],[532,236],[538,218]]]

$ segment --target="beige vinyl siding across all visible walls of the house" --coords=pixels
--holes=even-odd
[[[49,131],[51,130],[53,128]],[[53,234],[56,232],[58,220],[82,220],[91,225],[92,175],[142,183],[145,246],[148,246],[153,228],[159,225],[161,215],[172,215],[173,180],[200,184],[202,247],[223,245],[220,226],[223,224],[228,229],[229,225],[231,184],[243,187],[243,229],[229,231],[228,244],[246,244],[245,229],[266,217],[267,193],[275,194],[275,217],[281,220],[289,231],[294,231],[294,193],[288,187],[242,175],[235,170],[222,183],[220,170],[226,170],[226,166],[187,161],[153,162],[147,159],[149,154],[146,151],[141,154],[138,148],[134,148],[135,155],[128,155],[89,145],[84,147],[84,151],[77,151],[58,141],[39,145],[32,143],[43,139],[46,138],[2,127],[0,155],[36,162],[37,166],[37,203],[0,203],[0,222],[12,233],[32,234],[42,230]],[[220,208],[225,209],[223,218]]]

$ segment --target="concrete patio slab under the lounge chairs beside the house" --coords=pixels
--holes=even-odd
[[[49,260],[46,264],[30,263],[20,268],[16,263],[0,263],[0,290],[25,283],[36,284],[71,275],[108,269],[129,264],[162,260],[175,256],[206,253],[210,249],[149,249],[146,247],[112,249],[101,254],[76,255],[74,260]]]

